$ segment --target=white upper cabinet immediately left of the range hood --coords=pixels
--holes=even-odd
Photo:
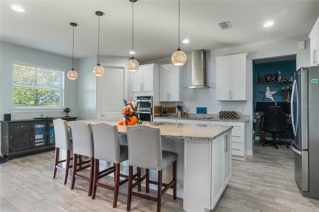
[[[181,67],[172,64],[161,65],[159,73],[160,102],[181,100]]]

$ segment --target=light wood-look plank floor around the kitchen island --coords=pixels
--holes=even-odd
[[[63,185],[63,172],[52,179],[54,151],[14,158],[0,165],[0,211],[13,212],[124,212],[127,184],[116,209],[113,192],[98,188],[96,199],[87,196],[88,183],[76,180],[74,190]],[[71,172],[72,173],[72,172]],[[112,181],[112,178],[107,179]],[[162,212],[180,212],[183,200],[164,195]],[[132,198],[131,211],[156,211],[156,203]],[[216,212],[319,212],[319,200],[301,195],[294,179],[293,151],[285,146],[254,145],[254,156],[232,161],[232,177],[215,207]]]

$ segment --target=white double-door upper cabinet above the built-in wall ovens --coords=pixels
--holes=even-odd
[[[154,91],[154,78],[159,67],[156,64],[141,65],[139,70],[131,72],[131,91]],[[158,79],[155,79],[158,80]]]

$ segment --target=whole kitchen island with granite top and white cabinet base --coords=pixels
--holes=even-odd
[[[117,121],[84,120],[90,123],[117,125]],[[160,128],[162,149],[176,152],[177,196],[183,198],[187,212],[213,209],[231,176],[232,126],[145,122]],[[127,126],[118,125],[120,142],[127,143]],[[122,172],[128,172],[123,163]],[[121,166],[122,167],[122,166]],[[153,171],[153,170],[151,170]],[[171,180],[171,169],[163,170],[163,181]],[[150,177],[157,178],[157,172]],[[152,189],[157,190],[157,187]],[[168,192],[169,193],[169,192]]]

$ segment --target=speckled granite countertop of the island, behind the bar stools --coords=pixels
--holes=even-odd
[[[117,121],[105,121],[101,119],[83,120],[89,123],[107,123],[117,125],[120,134],[127,134],[126,125],[118,125]],[[72,121],[70,121],[72,122]],[[143,124],[160,128],[161,137],[179,139],[213,140],[221,134],[231,130],[233,126],[206,125],[206,124],[184,124],[167,122],[144,122]]]

